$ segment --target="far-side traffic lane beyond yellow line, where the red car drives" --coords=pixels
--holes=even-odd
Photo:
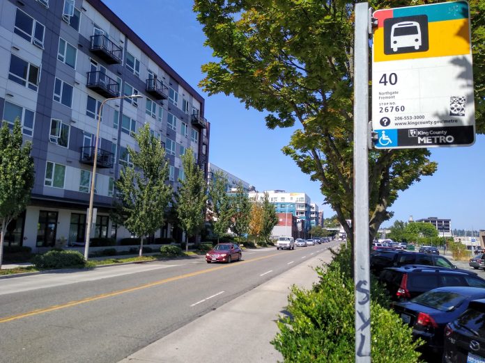
[[[261,252],[249,256],[245,256],[243,252],[243,258],[257,259],[272,252],[275,252],[272,248],[262,249]],[[215,265],[207,265],[205,257],[199,256],[1,280],[0,318],[150,284],[163,278],[205,270],[211,266]]]

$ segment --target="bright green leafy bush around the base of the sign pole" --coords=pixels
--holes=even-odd
[[[288,316],[279,321],[271,342],[284,362],[354,362],[354,286],[350,253],[336,255],[326,268],[317,268],[318,284],[309,291],[296,287],[288,297]],[[346,261],[345,265],[341,262]],[[371,286],[372,362],[419,362],[411,329],[387,309],[382,287]],[[380,302],[383,302],[381,305]]]

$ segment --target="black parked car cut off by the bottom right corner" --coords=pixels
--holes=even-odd
[[[446,326],[443,362],[485,362],[485,299],[471,301],[468,310]]]

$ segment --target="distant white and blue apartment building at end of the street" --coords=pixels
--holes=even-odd
[[[305,193],[286,193],[286,191],[265,191],[270,202],[275,204],[276,213],[291,213],[297,219],[299,238],[305,238],[311,228],[311,200]],[[263,198],[263,193],[251,192],[249,198]]]

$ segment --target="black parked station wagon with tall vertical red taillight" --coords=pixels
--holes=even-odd
[[[401,266],[384,268],[379,275],[391,300],[409,300],[437,287],[483,287],[485,280],[476,273],[439,266]]]

